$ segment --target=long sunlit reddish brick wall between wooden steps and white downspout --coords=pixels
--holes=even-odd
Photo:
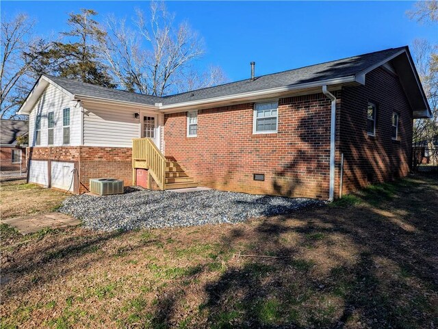
[[[274,134],[253,134],[253,103],[203,109],[197,137],[186,137],[185,112],[167,114],[166,157],[202,186],[328,198],[330,109],[324,94],[282,98]],[[253,181],[255,173],[265,181]]]

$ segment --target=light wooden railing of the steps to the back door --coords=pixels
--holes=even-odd
[[[133,138],[132,161],[146,161],[148,172],[162,190],[166,188],[166,158],[151,138]]]

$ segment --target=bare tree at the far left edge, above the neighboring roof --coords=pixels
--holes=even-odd
[[[44,40],[34,36],[35,22],[26,14],[1,19],[0,101],[1,118],[16,117],[34,81],[31,64]]]

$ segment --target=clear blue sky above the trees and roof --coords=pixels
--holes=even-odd
[[[438,43],[438,27],[410,21],[411,1],[168,1],[205,40],[199,62],[221,66],[230,81],[411,44]],[[27,12],[40,34],[66,29],[68,12],[92,8],[99,16],[131,18],[146,1],[1,1],[3,14]]]

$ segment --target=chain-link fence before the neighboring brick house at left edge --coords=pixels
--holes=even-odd
[[[1,148],[0,179],[24,178],[27,174],[26,151],[21,148]]]

